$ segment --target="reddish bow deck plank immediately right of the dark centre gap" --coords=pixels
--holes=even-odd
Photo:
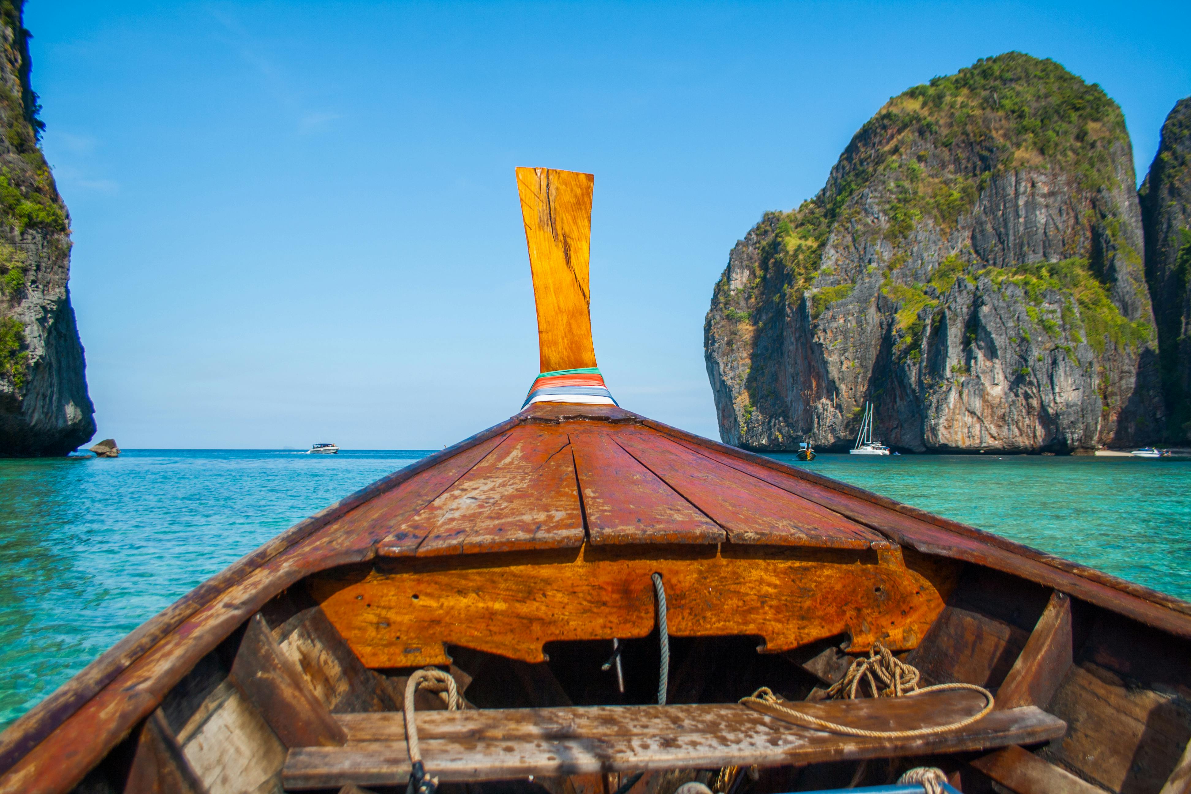
[[[587,532],[611,543],[722,543],[724,531],[625,452],[609,433],[570,432]]]

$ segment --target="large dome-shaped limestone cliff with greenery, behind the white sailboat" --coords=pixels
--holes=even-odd
[[[1068,451],[1164,407],[1124,118],[1008,52],[891,99],[732,249],[704,326],[727,443]]]

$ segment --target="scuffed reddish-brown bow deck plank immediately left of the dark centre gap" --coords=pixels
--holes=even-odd
[[[584,519],[567,432],[518,427],[400,531],[425,536],[419,557],[581,545]]]

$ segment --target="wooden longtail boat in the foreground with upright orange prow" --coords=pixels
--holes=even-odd
[[[619,407],[592,177],[517,179],[522,411],[117,643],[0,792],[1186,790],[1191,605]]]

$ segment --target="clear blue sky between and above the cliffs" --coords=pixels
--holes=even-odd
[[[1052,57],[1139,179],[1191,94],[1191,5],[30,0],[99,437],[435,449],[537,373],[513,168],[596,174],[596,352],[717,437],[703,318],[732,244],[891,95]]]

